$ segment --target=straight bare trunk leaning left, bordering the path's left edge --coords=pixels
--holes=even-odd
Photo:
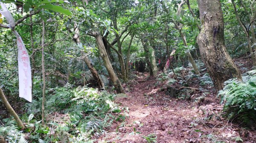
[[[121,85],[121,82],[119,81],[118,77],[116,76],[116,73],[113,70],[110,60],[108,59],[108,54],[107,54],[107,51],[103,44],[102,36],[100,35],[99,32],[93,32],[93,36],[95,36],[96,43],[99,48],[100,56],[102,57],[104,65],[105,65],[106,69],[108,70],[108,75],[110,76],[110,79],[113,82],[113,85],[116,88],[117,93],[125,93],[125,91]]]

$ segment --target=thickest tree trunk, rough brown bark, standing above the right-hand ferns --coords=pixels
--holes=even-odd
[[[241,73],[224,45],[224,20],[219,0],[198,0],[202,29],[197,38],[201,57],[217,90]]]

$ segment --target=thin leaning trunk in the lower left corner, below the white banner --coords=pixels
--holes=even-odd
[[[24,124],[22,123],[22,121],[20,120],[19,116],[16,114],[14,109],[11,107],[11,105],[7,101],[5,95],[3,94],[3,90],[1,88],[0,88],[0,98],[3,101],[3,104],[5,105],[5,107],[8,110],[8,112],[10,112],[10,114],[13,116],[13,118],[17,122],[18,126],[23,130],[25,128]]]

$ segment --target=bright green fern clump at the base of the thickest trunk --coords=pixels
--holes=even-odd
[[[256,123],[256,70],[242,77],[242,81],[230,79],[219,92],[224,104],[224,116],[255,128]]]

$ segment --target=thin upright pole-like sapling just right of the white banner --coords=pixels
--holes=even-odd
[[[44,125],[44,101],[45,101],[45,69],[44,69],[44,20],[42,32],[42,74],[43,74],[43,99],[42,99],[42,125]]]

